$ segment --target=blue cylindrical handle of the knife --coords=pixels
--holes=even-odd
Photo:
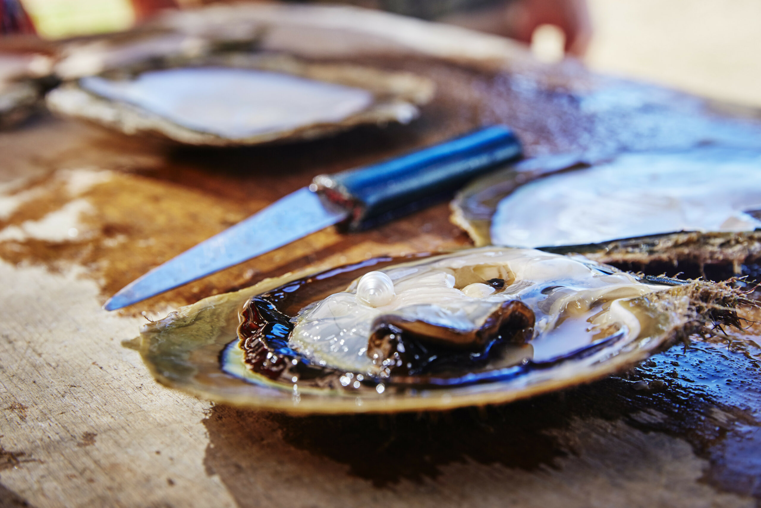
[[[361,231],[441,200],[474,177],[521,155],[505,126],[490,126],[364,168],[320,174],[311,190],[349,209],[349,231]]]

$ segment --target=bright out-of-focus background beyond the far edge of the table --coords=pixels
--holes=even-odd
[[[162,8],[204,0],[0,0],[2,31],[46,39],[126,30]],[[336,2],[333,2],[336,3]],[[341,2],[339,2],[341,3]],[[570,54],[599,72],[761,107],[758,0],[355,0]]]

